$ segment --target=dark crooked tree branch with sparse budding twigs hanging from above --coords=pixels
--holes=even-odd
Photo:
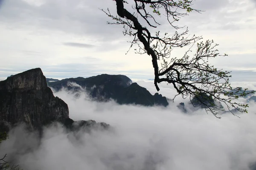
[[[227,56],[219,54],[216,49],[218,44],[215,44],[213,40],[203,42],[200,41],[202,37],[190,36],[188,28],[178,33],[178,30],[184,27],[174,25],[191,11],[201,12],[192,8],[193,0],[113,1],[116,1],[116,16],[112,15],[109,9],[102,9],[114,20],[108,24],[122,25],[123,34],[133,37],[129,50],[136,45],[137,54],[151,56],[154,85],[157,91],[160,90],[158,87],[160,82],[172,84],[177,90],[177,95],[182,95],[183,98],[189,97],[190,101],[197,99],[207,112],[210,111],[218,118],[220,118],[217,116],[218,111],[224,111],[224,109],[216,104],[217,101],[224,103],[233,115],[236,114],[232,108],[235,111],[247,112],[248,105],[237,103],[236,99],[239,96],[254,93],[254,91],[247,92],[247,89],[241,87],[232,88],[229,81],[230,71],[215,68],[208,62],[210,58]],[[125,6],[130,7],[130,11],[133,12],[128,11]],[[154,31],[155,34],[151,33],[150,29],[154,30],[160,26],[157,20],[160,15],[163,15],[170,26],[175,28],[173,35],[168,33],[161,35],[158,30]],[[178,47],[188,47],[188,50],[183,56],[173,57],[172,51]],[[208,102],[204,102],[206,99]]]

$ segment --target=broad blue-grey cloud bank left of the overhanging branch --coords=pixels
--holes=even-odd
[[[0,18],[1,22],[12,27],[29,29],[29,26],[34,25],[41,29],[64,31],[110,41],[117,38],[116,32],[122,35],[122,31],[117,31],[118,27],[106,24],[108,16],[99,10],[106,6],[115,10],[114,2],[111,6],[104,0],[97,4],[83,0],[73,0],[72,3],[69,0],[42,0],[40,5],[35,5],[33,1],[8,0],[3,3]]]

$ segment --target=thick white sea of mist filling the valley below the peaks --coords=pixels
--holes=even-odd
[[[151,81],[138,84],[154,93]],[[249,87],[255,87],[254,84]],[[160,93],[175,91],[161,84]],[[250,89],[254,90],[254,89]],[[15,156],[24,170],[253,170],[256,163],[256,104],[248,114],[222,114],[204,110],[182,113],[176,105],[145,107],[95,102],[83,89],[76,95],[54,92],[69,107],[73,120],[95,120],[110,130],[68,132],[62,125],[44,128],[41,140],[22,126],[12,129],[0,145],[0,156]],[[241,99],[244,101],[244,99]],[[186,103],[185,103],[186,106]]]

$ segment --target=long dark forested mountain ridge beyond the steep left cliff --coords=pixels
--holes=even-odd
[[[86,88],[92,99],[97,101],[114,99],[119,104],[169,105],[166,97],[158,93],[150,94],[146,88],[141,87],[137,83],[132,83],[131,79],[124,75],[101,74],[88,78],[69,78],[48,82],[48,85],[56,91],[61,90],[61,88],[73,91],[80,89],[80,87],[70,85],[70,83],[76,83],[82,88]]]

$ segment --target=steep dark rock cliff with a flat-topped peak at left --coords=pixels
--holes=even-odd
[[[67,104],[47,87],[41,68],[16,74],[0,81],[0,120],[15,125],[24,122],[39,129],[52,121],[69,117]]]

